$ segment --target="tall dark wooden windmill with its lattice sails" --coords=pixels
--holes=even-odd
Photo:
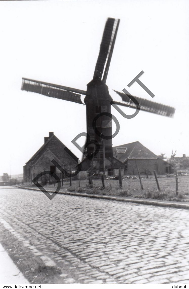
[[[94,140],[94,142],[96,141],[100,144],[99,152],[95,156],[94,161],[99,164],[99,170],[101,171],[104,171],[105,158],[109,160],[110,166],[113,165],[114,159],[112,151],[112,138],[102,139],[100,135],[112,136],[112,119],[110,116],[105,115],[106,113],[111,114],[110,102],[112,101],[112,97],[108,91],[108,86],[106,85],[106,79],[108,76],[118,26],[119,19],[107,19],[93,79],[87,84],[86,91],[33,79],[22,78],[21,90],[36,92],[45,96],[86,105],[87,134],[90,136],[90,140]],[[136,109],[136,105],[131,101],[128,95],[118,91],[116,91],[116,93],[121,97],[122,102],[114,101],[114,104]],[[84,103],[81,101],[81,95],[85,95]],[[139,97],[135,97],[135,99],[140,104],[141,110],[168,117],[173,117],[174,115],[175,109],[170,106],[155,103]],[[97,133],[97,131],[94,131],[93,129],[93,121],[99,113],[102,115],[96,119]],[[94,153],[94,148],[94,143],[89,144],[86,147],[87,154],[92,155]]]

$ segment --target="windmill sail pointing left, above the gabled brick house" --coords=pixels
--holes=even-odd
[[[86,91],[84,90],[79,90],[76,88],[51,84],[48,82],[42,82],[28,78],[22,78],[21,90],[36,92],[45,96],[73,101],[80,104],[84,104],[81,101],[81,95],[86,94]]]

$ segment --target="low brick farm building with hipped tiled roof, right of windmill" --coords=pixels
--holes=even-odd
[[[136,164],[141,174],[153,171],[158,174],[172,172],[171,164],[158,158],[138,141],[113,147],[113,155],[125,164],[125,175],[138,174]]]

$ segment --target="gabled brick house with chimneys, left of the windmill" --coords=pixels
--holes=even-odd
[[[56,173],[61,178],[61,171],[51,162],[53,159],[67,172],[69,172],[69,169],[75,170],[78,164],[78,158],[71,151],[71,155],[69,155],[64,148],[66,148],[66,146],[54,133],[49,132],[49,136],[44,138],[42,147],[40,147],[23,167],[24,182],[32,182],[32,179],[43,171],[51,171],[51,173]],[[51,175],[45,175],[45,177],[48,178],[47,181],[51,182]]]

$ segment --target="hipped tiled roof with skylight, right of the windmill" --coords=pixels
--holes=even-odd
[[[119,151],[123,151],[120,153]],[[157,155],[144,147],[140,142],[130,142],[117,147],[113,147],[114,156],[117,155],[118,160],[125,162],[126,160],[138,160],[138,159],[157,159]]]

